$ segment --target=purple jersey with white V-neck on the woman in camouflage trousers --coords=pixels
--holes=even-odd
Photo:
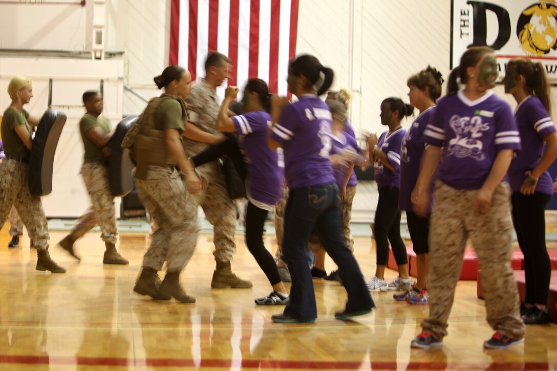
[[[439,99],[423,133],[444,147],[437,176],[456,189],[480,189],[503,149],[520,149],[516,120],[507,102],[489,91],[471,101],[462,90]]]

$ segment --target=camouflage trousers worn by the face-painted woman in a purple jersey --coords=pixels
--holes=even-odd
[[[487,323],[512,339],[524,336],[519,295],[511,269],[511,211],[507,183],[495,189],[491,207],[471,207],[477,190],[459,190],[437,181],[429,229],[429,318],[424,330],[436,339],[447,335],[447,320],[455,298],[467,238],[470,237],[482,270]]]

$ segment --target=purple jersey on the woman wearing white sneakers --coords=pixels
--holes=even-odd
[[[375,157],[375,164],[373,165],[375,181],[377,182],[377,189],[385,186],[400,189],[400,146],[402,146],[402,140],[406,135],[406,129],[401,127],[387,136],[388,133],[389,131],[384,131],[379,136],[377,148],[387,155],[387,160],[394,170],[385,167],[383,162]]]

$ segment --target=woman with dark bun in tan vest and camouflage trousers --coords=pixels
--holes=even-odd
[[[184,100],[192,90],[192,78],[182,67],[171,65],[154,81],[159,89],[164,87],[164,94],[151,99],[141,114],[133,152],[139,199],[159,228],[143,257],[134,291],[157,300],[174,297],[180,302],[195,302],[179,281],[180,272],[193,255],[199,231],[197,202],[192,195],[207,188],[207,179],[194,171],[182,144],[188,118]],[[157,272],[165,261],[167,274],[160,283]]]

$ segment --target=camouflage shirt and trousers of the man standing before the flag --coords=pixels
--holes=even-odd
[[[216,92],[205,80],[199,81],[186,100],[189,120],[207,133],[217,133],[215,125],[221,104]],[[207,144],[184,138],[184,150],[188,157],[207,148]],[[229,262],[236,252],[234,233],[236,232],[236,207],[228,196],[226,180],[219,160],[214,160],[198,167],[199,172],[207,177],[209,186],[206,191],[197,193],[196,200],[203,208],[207,220],[213,225],[214,258]]]

